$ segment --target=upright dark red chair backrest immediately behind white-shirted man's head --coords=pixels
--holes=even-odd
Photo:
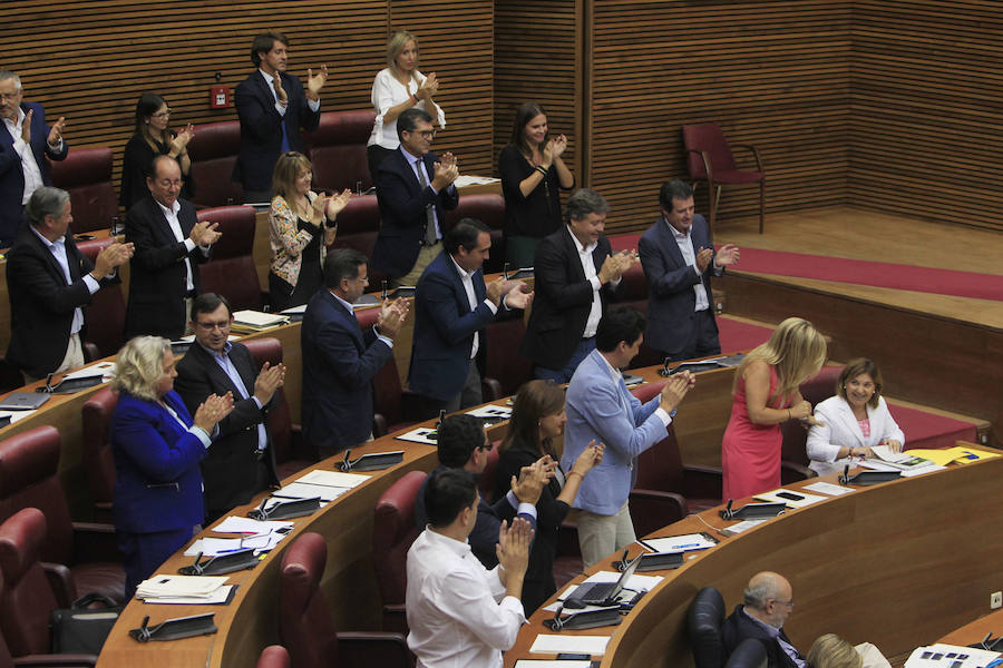
[[[372,553],[377,584],[384,606],[402,606],[408,590],[408,550],[418,538],[415,500],[423,471],[411,471],[380,495],[372,521]]]

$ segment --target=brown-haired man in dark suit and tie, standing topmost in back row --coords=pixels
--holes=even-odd
[[[279,156],[303,150],[303,130],[320,124],[320,91],[328,66],[318,73],[306,70],[306,90],[298,77],[285,73],[289,40],[281,32],[259,35],[251,43],[251,61],[257,71],[244,79],[233,96],[241,119],[241,153],[233,180],[244,187],[244,202],[272,199],[272,173]]]

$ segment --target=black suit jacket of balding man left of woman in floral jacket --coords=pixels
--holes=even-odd
[[[195,207],[178,199],[177,220],[182,236],[188,238],[197,222]],[[126,214],[126,240],[136,244],[129,264],[129,299],[126,305],[126,338],[154,334],[177,338],[185,333],[185,263],[192,261],[192,282],[195,293],[202,292],[198,264],[206,261],[195,246],[188,253],[185,244],[176,242],[167,218],[150,196],[136,203]]]

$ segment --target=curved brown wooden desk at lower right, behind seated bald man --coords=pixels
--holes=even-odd
[[[691,553],[678,570],[651,573],[665,580],[621,626],[564,632],[612,632],[603,667],[692,666],[686,610],[697,591],[718,588],[730,611],[750,576],[775,570],[793,587],[797,607],[783,628],[801,651],[825,632],[869,640],[885,656],[912,651],[975,618],[986,609],[989,592],[1000,588],[1001,478],[1003,458],[956,465],[858,488],[732,538],[717,536],[720,544]],[[733,523],[715,511],[701,517],[719,528]],[[703,530],[690,517],[652,536]],[[635,546],[631,553],[639,550]],[[590,572],[613,570],[612,560]],[[542,623],[549,616],[533,615],[506,652],[506,667],[518,658],[553,658],[529,654],[536,635],[551,632]]]

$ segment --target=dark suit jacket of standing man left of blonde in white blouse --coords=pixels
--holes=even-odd
[[[267,190],[272,187],[272,174],[282,150],[281,124],[285,124],[289,150],[300,153],[304,153],[300,129],[315,130],[320,125],[320,110],[310,110],[299,77],[285,72],[281,72],[281,77],[289,97],[284,115],[275,110],[275,95],[260,70],[251,72],[236,87],[233,96],[241,119],[241,153],[233,166],[233,180],[241,181],[245,190]]]

